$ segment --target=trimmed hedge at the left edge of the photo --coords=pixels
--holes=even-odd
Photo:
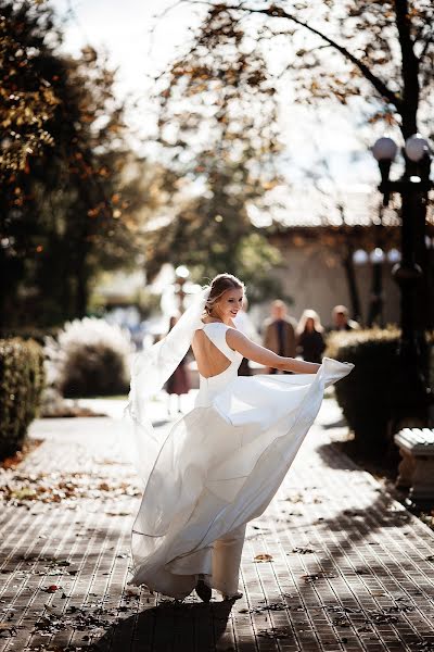
[[[0,339],[0,460],[23,447],[43,385],[42,348],[33,340]]]

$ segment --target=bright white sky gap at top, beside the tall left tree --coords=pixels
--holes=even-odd
[[[63,49],[79,54],[88,43],[106,51],[117,68],[116,92],[127,103],[140,101],[138,110],[128,112],[129,125],[141,136],[152,134],[152,78],[186,47],[199,10],[169,10],[174,0],[52,0],[51,4],[65,21]]]

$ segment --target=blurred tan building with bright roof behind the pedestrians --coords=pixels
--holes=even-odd
[[[299,318],[311,308],[328,325],[332,308],[343,303],[363,325],[398,323],[399,290],[392,276],[400,258],[398,210],[397,204],[382,208],[379,197],[366,191],[341,192],[339,199],[306,192],[273,210],[272,224],[265,228],[283,258],[276,275],[293,300],[290,313]],[[426,273],[432,277],[432,209],[426,248]],[[260,316],[266,312],[264,306]]]

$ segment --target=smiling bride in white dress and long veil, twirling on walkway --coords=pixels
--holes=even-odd
[[[164,340],[139,353],[128,412],[144,493],[131,537],[129,584],[208,602],[241,597],[245,526],[282,482],[321,405],[324,387],[354,365],[282,358],[237,330],[244,285],[219,274]],[[200,374],[194,409],[169,432],[154,430],[148,400],[192,347]],[[242,359],[292,375],[238,376]]]

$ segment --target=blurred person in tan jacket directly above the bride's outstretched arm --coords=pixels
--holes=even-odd
[[[286,305],[283,301],[277,299],[271,303],[271,317],[266,319],[264,326],[264,347],[278,355],[295,358],[297,324],[295,319],[286,315]],[[270,368],[269,373],[277,374],[278,369]]]

